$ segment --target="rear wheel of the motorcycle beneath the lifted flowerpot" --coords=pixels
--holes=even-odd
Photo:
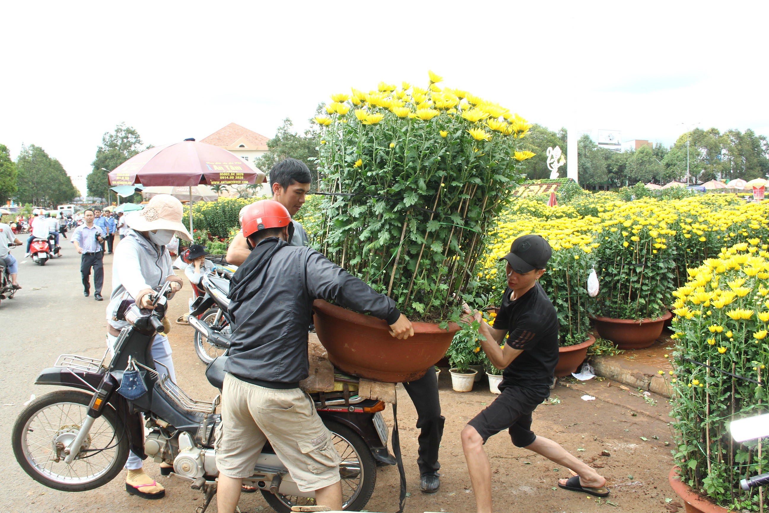
[[[332,442],[339,453],[341,464],[342,509],[361,511],[365,508],[377,484],[377,465],[371,450],[358,433],[335,421],[323,423],[331,431]],[[291,506],[314,506],[315,499],[295,495],[271,494],[260,490],[265,501],[278,513],[289,513]]]

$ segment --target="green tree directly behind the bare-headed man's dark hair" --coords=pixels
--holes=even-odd
[[[315,128],[308,128],[303,135],[299,135],[294,132],[293,126],[291,119],[285,118],[283,125],[278,127],[275,137],[268,141],[268,152],[255,160],[254,165],[261,171],[269,173],[272,166],[284,158],[301,160],[310,169],[311,187],[314,191],[318,184],[318,132]],[[314,126],[311,125],[311,127]]]

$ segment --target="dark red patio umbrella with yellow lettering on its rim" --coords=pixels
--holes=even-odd
[[[260,184],[265,174],[225,148],[189,138],[171,145],[150,148],[134,155],[108,174],[110,185],[141,184],[145,187],[175,185],[190,191],[192,233],[192,187],[195,185]]]

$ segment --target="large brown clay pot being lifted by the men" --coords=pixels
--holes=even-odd
[[[414,336],[398,340],[386,321],[316,299],[315,331],[328,359],[341,371],[388,383],[414,381],[446,354],[459,326],[448,331],[429,322],[414,322]]]

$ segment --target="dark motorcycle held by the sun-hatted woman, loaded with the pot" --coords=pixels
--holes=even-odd
[[[98,488],[122,471],[130,448],[141,458],[148,455],[173,465],[171,475],[190,481],[191,488],[205,493],[199,509],[205,513],[217,486],[214,438],[221,422],[216,413],[220,396],[213,401],[191,398],[151,358],[152,341],[164,331],[161,319],[170,285],[165,283],[151,296],[154,309],[131,304],[118,316],[128,326],[120,332],[112,358],[107,358],[108,351],[101,360],[61,355],[54,367],[38,375],[38,385],[78,390],[42,395],[15,421],[14,455],[35,481],[62,491]],[[195,317],[189,319],[208,329]],[[208,336],[218,335],[208,332]],[[206,369],[209,383],[220,391],[225,378],[223,358]],[[124,379],[129,387],[122,386]],[[347,381],[342,385],[340,392],[321,395],[315,406],[342,458],[344,507],[360,511],[374,491],[377,461],[388,465],[395,461],[387,448],[388,428],[381,418],[384,402],[353,395]],[[128,393],[126,388],[138,390],[138,394]],[[146,437],[145,428],[149,431]],[[258,488],[280,513],[314,503],[314,492],[299,491],[269,442],[253,474],[244,481]]]

